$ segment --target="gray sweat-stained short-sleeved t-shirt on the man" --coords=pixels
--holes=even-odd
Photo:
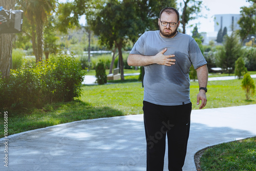
[[[173,38],[163,38],[158,31],[140,36],[130,54],[153,56],[167,48],[164,55],[175,54],[175,65],[145,66],[144,101],[159,105],[182,105],[190,102],[189,68],[195,69],[207,62],[197,42],[189,35],[178,32]]]

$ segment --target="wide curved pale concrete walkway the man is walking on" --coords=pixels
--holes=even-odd
[[[256,136],[255,111],[256,104],[193,110],[183,170],[196,171],[194,155],[202,148]],[[0,156],[0,170],[144,171],[143,115],[82,120],[11,135],[0,139]]]

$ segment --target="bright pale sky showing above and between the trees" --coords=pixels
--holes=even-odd
[[[72,0],[59,0],[59,2],[71,2]],[[180,2],[183,0],[177,0],[178,8]],[[188,23],[193,25],[191,28],[186,28],[186,33],[191,34],[195,25],[198,25],[198,31],[200,32],[214,32],[214,15],[216,14],[240,14],[240,8],[243,6],[249,6],[250,3],[246,0],[202,0],[203,5],[206,6],[209,11],[205,8],[202,9],[201,13],[204,17],[197,18]],[[181,11],[179,11],[181,13]],[[81,17],[80,24],[84,25],[84,17]],[[182,27],[180,26],[180,29]]]

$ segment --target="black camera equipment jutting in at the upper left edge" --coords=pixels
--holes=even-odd
[[[0,7],[0,34],[22,32],[23,10],[5,10]]]

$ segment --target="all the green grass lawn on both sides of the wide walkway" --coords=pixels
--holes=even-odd
[[[125,81],[129,83],[117,80],[115,84],[84,86],[82,96],[71,102],[48,104],[42,109],[7,111],[8,135],[83,119],[142,114],[143,88],[137,80],[138,76],[126,76]],[[256,84],[256,79],[253,80]],[[245,100],[241,82],[238,79],[209,81],[205,109],[256,104],[255,95]],[[193,110],[199,109],[197,93],[198,82],[191,82]],[[0,114],[0,130],[4,130],[3,114]],[[201,159],[201,167],[209,171],[255,170],[255,142],[254,138],[209,148]]]

